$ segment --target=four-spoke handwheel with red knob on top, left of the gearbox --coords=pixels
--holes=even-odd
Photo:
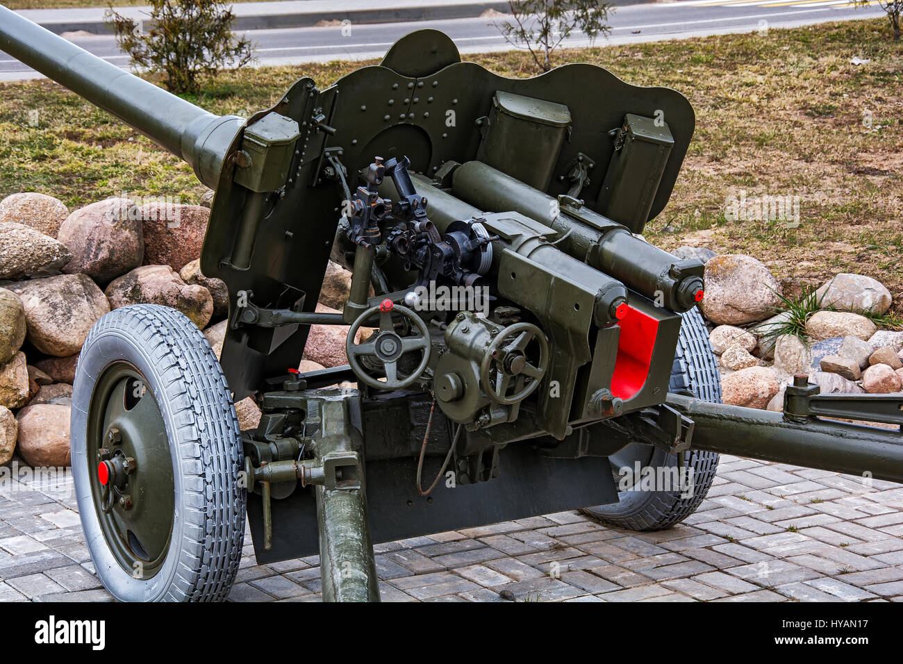
[[[379,330],[364,343],[355,343],[354,338],[358,330],[369,318],[379,314]],[[411,331],[420,332],[419,335],[402,336],[396,332],[392,316],[400,316],[410,324]],[[345,341],[345,351],[351,369],[358,379],[365,385],[377,389],[403,389],[414,384],[424,373],[430,361],[430,332],[423,319],[416,313],[401,304],[395,304],[392,300],[383,300],[381,304],[370,307],[358,316],[358,320],[351,323],[348,338]],[[406,378],[398,378],[398,360],[407,353],[420,351],[422,359],[416,369]],[[386,373],[384,380],[371,376],[361,365],[362,358],[375,359],[382,365]]]

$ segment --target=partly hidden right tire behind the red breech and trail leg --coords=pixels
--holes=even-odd
[[[721,403],[721,375],[712,351],[703,316],[694,307],[683,314],[680,338],[671,369],[669,391]],[[674,467],[676,454],[652,448],[649,466]],[[628,530],[662,530],[680,523],[694,513],[712,486],[718,469],[718,454],[694,450],[685,455],[694,471],[694,491],[681,498],[680,491],[621,491],[619,502],[587,508],[592,517]]]

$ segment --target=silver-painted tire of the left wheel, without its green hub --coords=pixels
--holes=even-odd
[[[87,454],[88,404],[101,372],[116,360],[131,362],[144,375],[172,452],[172,540],[162,566],[148,579],[134,578],[111,553],[88,478],[96,472]],[[95,323],[75,373],[70,444],[82,528],[109,593],[124,602],[224,600],[245,538],[243,456],[226,379],[197,325],[155,304],[125,306]]]

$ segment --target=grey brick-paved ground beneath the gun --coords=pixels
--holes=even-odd
[[[109,599],[74,502],[0,488],[0,601]],[[377,569],[384,601],[903,601],[903,487],[722,456],[701,510],[664,532],[561,512],[379,545]],[[247,535],[230,599],[319,592],[316,556],[260,566]]]

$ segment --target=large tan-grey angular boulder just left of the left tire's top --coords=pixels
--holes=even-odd
[[[28,341],[60,358],[79,352],[91,326],[110,310],[107,297],[87,275],[49,276],[8,287],[22,298]]]

